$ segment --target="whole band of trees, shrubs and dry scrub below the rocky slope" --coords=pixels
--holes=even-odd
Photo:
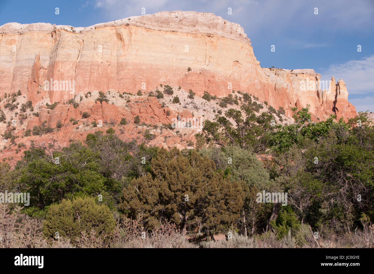
[[[0,204],[1,247],[374,247],[365,115],[313,122],[295,108],[282,125],[245,101],[205,120],[190,150],[113,129],[67,147],[34,142],[14,167],[0,163],[0,193],[30,193],[29,206]],[[259,202],[263,191],[287,203]]]

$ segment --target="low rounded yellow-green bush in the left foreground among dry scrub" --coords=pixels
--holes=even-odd
[[[77,197],[64,199],[49,207],[43,221],[43,233],[47,237],[55,237],[58,232],[74,243],[83,231],[89,234],[94,230],[101,237],[110,234],[114,225],[113,213],[106,205],[96,204],[91,197]]]

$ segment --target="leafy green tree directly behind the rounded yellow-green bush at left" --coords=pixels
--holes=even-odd
[[[18,182],[30,192],[30,204],[39,209],[63,198],[105,191],[108,180],[99,173],[95,153],[74,143],[62,151],[33,148],[25,151]],[[30,155],[35,155],[30,157]]]

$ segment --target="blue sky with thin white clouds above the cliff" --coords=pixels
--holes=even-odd
[[[0,0],[0,25],[88,27],[141,15],[142,7],[146,14],[212,12],[238,23],[262,67],[312,68],[322,80],[342,78],[356,109],[374,112],[374,0]],[[275,52],[270,52],[272,44]]]

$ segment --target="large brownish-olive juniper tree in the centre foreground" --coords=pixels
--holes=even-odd
[[[194,151],[184,156],[176,148],[162,148],[151,167],[123,189],[122,208],[129,217],[142,214],[148,229],[172,221],[184,234],[198,229],[206,236],[235,225],[244,184],[224,178],[213,161]]]

